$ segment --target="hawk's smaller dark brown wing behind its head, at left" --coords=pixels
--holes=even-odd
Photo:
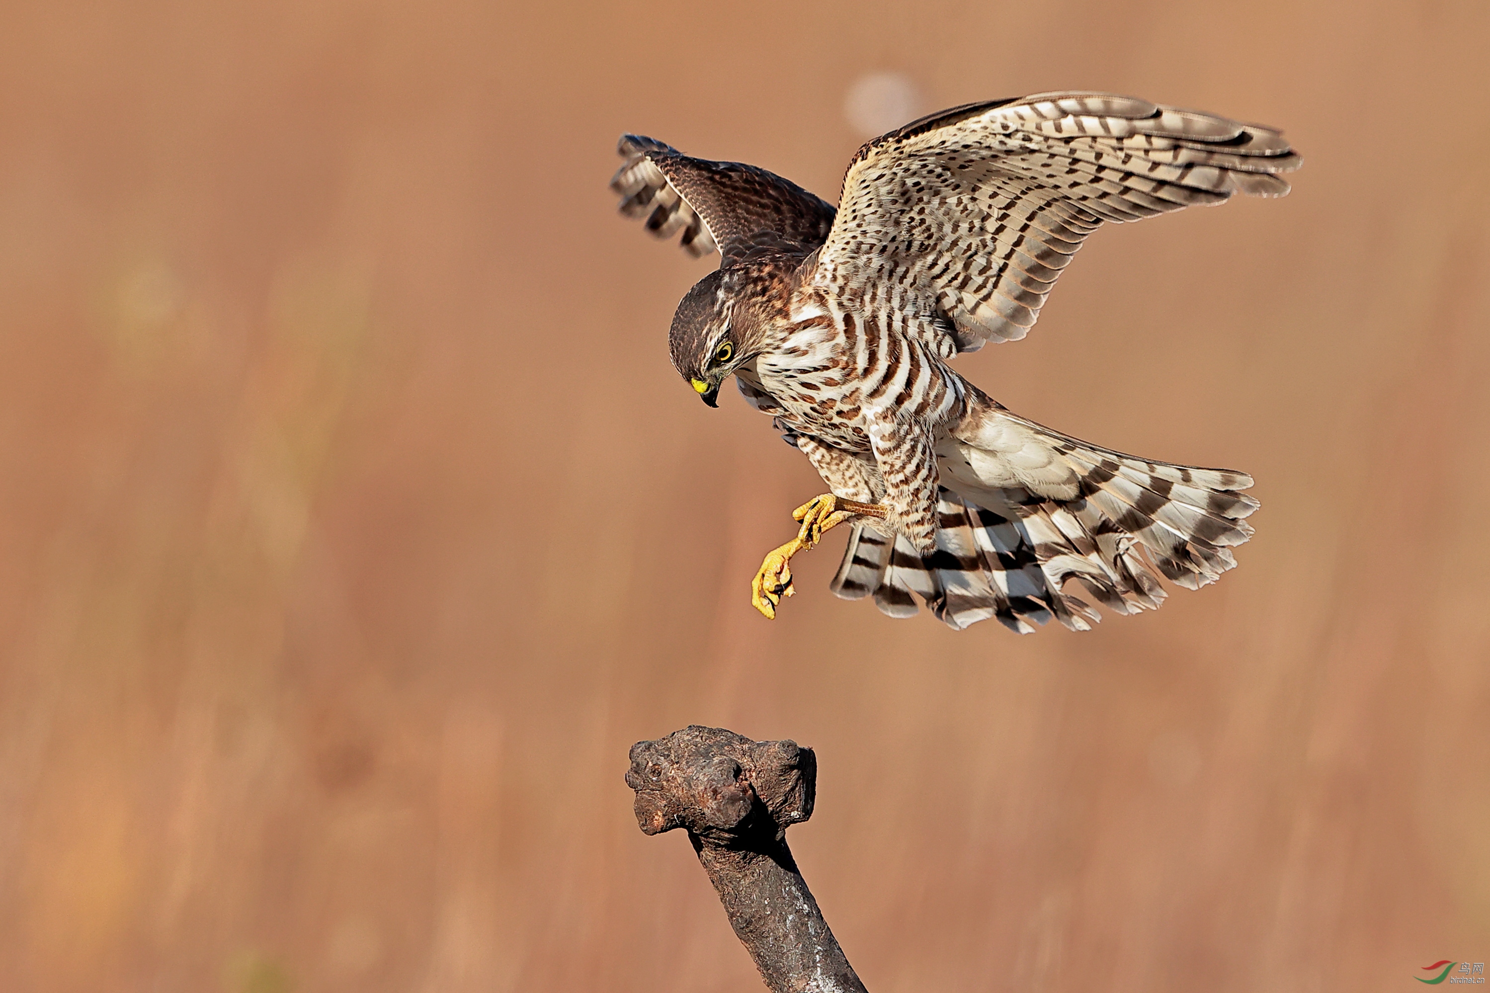
[[[833,227],[831,204],[764,168],[690,158],[636,134],[623,134],[617,151],[626,163],[611,189],[621,213],[647,218],[660,239],[682,231],[694,258],[718,249],[732,261],[763,245],[809,252]]]

